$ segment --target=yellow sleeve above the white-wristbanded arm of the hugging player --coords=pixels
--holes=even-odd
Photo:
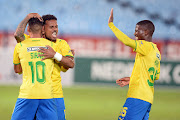
[[[57,44],[57,52],[61,53],[62,56],[73,57],[73,54],[71,52],[71,48],[65,40],[61,40],[61,42],[59,42]]]

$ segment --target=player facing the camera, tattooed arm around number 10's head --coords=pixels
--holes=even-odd
[[[30,13],[26,16],[26,18],[19,24],[15,38],[16,40],[22,41],[29,38],[29,35],[24,34],[27,20],[31,17],[37,17],[41,19],[41,16],[37,13]],[[57,39],[58,33],[58,25],[57,25],[57,18],[53,15],[44,15],[42,16],[44,21],[44,37],[52,42],[56,42],[57,48],[59,53],[67,58],[71,58],[73,60],[73,54],[67,42],[62,39]],[[48,50],[52,50],[51,48]],[[43,51],[46,52],[45,54],[52,55],[52,51]],[[48,52],[48,53],[47,53]],[[52,81],[53,81],[53,97],[55,98],[57,112],[58,112],[58,120],[65,120],[65,104],[63,98],[63,91],[62,91],[62,84],[61,84],[61,76],[60,72],[66,72],[68,68],[73,68],[71,65],[66,65],[66,63],[55,63],[53,73],[52,73]]]

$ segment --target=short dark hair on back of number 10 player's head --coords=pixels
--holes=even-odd
[[[43,26],[43,22],[41,22],[38,18],[30,18],[28,24],[33,33],[40,31]]]

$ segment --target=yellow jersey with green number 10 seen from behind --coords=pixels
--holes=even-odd
[[[18,43],[14,50],[14,64],[21,64],[23,82],[18,98],[50,99],[52,94],[51,74],[54,67],[53,59],[41,61],[37,52],[39,47],[49,45],[56,50],[56,45],[44,38],[29,38]]]

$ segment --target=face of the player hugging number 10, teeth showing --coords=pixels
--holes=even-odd
[[[47,20],[44,25],[44,32],[46,39],[56,41],[58,34],[57,20]]]

